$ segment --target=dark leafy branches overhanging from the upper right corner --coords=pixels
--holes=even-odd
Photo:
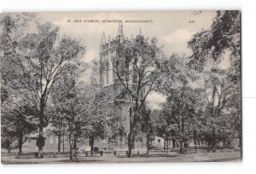
[[[188,45],[193,54],[189,64],[198,71],[203,71],[209,62],[219,63],[224,53],[230,53],[230,73],[232,81],[241,83],[241,44],[240,11],[217,11],[212,26],[195,34]],[[230,75],[231,75],[230,74]]]

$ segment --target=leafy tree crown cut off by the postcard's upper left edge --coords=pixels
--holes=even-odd
[[[25,28],[34,20],[35,14],[8,14],[1,15],[1,105],[8,100],[9,95],[15,90],[17,78],[15,69],[18,66],[12,61],[13,49],[17,46],[17,40],[23,36]],[[21,33],[22,31],[22,33]]]

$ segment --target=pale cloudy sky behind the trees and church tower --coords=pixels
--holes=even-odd
[[[79,38],[86,48],[83,60],[90,63],[100,59],[102,32],[105,33],[107,42],[109,37],[112,40],[117,36],[119,22],[102,22],[102,20],[122,20],[125,38],[131,38],[131,35],[133,38],[136,37],[141,29],[144,38],[158,38],[158,45],[163,48],[166,56],[170,56],[172,53],[189,55],[187,42],[196,32],[208,29],[215,15],[215,11],[201,11],[200,14],[198,11],[122,11],[39,13],[38,17],[59,26],[61,34]],[[99,22],[84,22],[84,20]],[[125,20],[150,20],[150,22],[131,23]],[[192,20],[194,22],[189,22]],[[84,74],[84,81],[89,79],[90,71]],[[152,92],[148,95],[147,102],[151,109],[160,109],[160,104],[166,102],[166,97]]]

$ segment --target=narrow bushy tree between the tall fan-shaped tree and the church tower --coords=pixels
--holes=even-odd
[[[51,91],[52,117],[50,124],[55,136],[58,136],[58,150],[61,150],[61,136],[68,136],[70,159],[73,160],[73,149],[76,154],[77,141],[82,136],[83,112],[85,106],[84,84],[79,82],[80,75],[86,69],[85,64],[74,65],[66,71]],[[64,148],[63,148],[64,149]]]

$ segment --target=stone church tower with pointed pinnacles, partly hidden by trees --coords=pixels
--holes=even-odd
[[[131,106],[130,102],[126,99],[122,98],[119,99],[119,95],[121,90],[124,89],[123,85],[119,83],[119,78],[117,77],[116,73],[114,73],[114,59],[119,59],[117,56],[117,49],[119,44],[127,45],[134,42],[134,38],[125,38],[124,26],[122,23],[119,23],[117,36],[115,38],[108,37],[106,40],[105,33],[102,33],[102,44],[100,45],[100,82],[102,84],[102,88],[104,90],[108,90],[110,94],[110,104],[113,105],[114,108],[114,116],[118,118],[117,120],[117,129],[119,130],[112,130],[116,133],[115,136],[111,137],[113,140],[111,141],[111,148],[115,150],[120,149],[127,149],[127,135],[129,132],[130,127],[130,115],[129,115],[129,108]],[[139,35],[143,35],[142,31],[139,30]],[[125,68],[120,68],[120,71],[125,72]],[[129,70],[131,71],[131,67]],[[122,72],[120,73],[122,76]],[[129,73],[131,74],[131,73]],[[125,78],[125,73],[124,73]],[[129,84],[132,84],[132,78],[129,77]],[[111,129],[111,128],[109,128]],[[113,128],[112,128],[113,129]],[[133,143],[134,149],[142,149],[146,148],[146,138],[141,132],[140,138],[136,138],[136,141]]]

